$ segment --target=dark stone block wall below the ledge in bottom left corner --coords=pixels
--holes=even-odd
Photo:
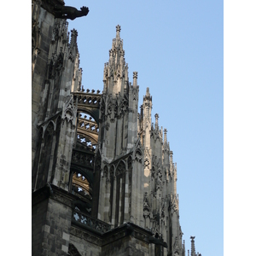
[[[67,255],[71,197],[45,186],[32,194],[32,255]]]

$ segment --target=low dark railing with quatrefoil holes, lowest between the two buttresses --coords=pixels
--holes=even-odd
[[[90,227],[90,229],[98,230],[102,233],[105,233],[111,229],[110,224],[107,224],[99,219],[92,218],[90,215],[87,215],[84,212],[80,212],[75,209],[73,209],[72,222],[73,224]]]

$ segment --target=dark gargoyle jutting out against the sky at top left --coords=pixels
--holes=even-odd
[[[72,6],[56,4],[53,10],[55,12],[55,18],[70,19],[70,20],[74,20],[75,18],[86,16],[89,13],[89,9],[86,6],[83,6],[80,8],[80,10],[78,10]]]

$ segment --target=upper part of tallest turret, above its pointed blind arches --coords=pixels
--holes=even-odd
[[[120,30],[120,26],[116,26],[116,38],[109,50],[109,61],[104,65],[103,75],[99,143],[107,161],[132,148],[137,136],[137,72],[133,73],[133,84],[129,84]]]

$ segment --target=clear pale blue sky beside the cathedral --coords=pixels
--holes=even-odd
[[[121,26],[129,79],[137,71],[139,105],[146,88],[152,119],[167,129],[177,162],[180,224],[203,256],[224,253],[224,3],[205,1],[72,1],[86,17],[79,32],[84,89],[102,90],[104,63]]]

